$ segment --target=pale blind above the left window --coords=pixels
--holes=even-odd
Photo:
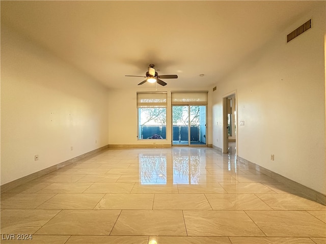
[[[166,108],[167,93],[138,93],[138,108]]]

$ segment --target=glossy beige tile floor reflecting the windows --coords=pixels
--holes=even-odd
[[[0,242],[325,244],[325,213],[213,148],[107,149],[3,193]]]

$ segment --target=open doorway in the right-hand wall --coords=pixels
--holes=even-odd
[[[237,129],[236,92],[223,98],[223,153],[236,153]]]

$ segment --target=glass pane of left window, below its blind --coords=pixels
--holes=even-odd
[[[139,139],[166,139],[167,109],[139,108],[138,125]]]

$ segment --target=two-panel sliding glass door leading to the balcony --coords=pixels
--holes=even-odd
[[[172,106],[172,145],[206,145],[206,105]]]

